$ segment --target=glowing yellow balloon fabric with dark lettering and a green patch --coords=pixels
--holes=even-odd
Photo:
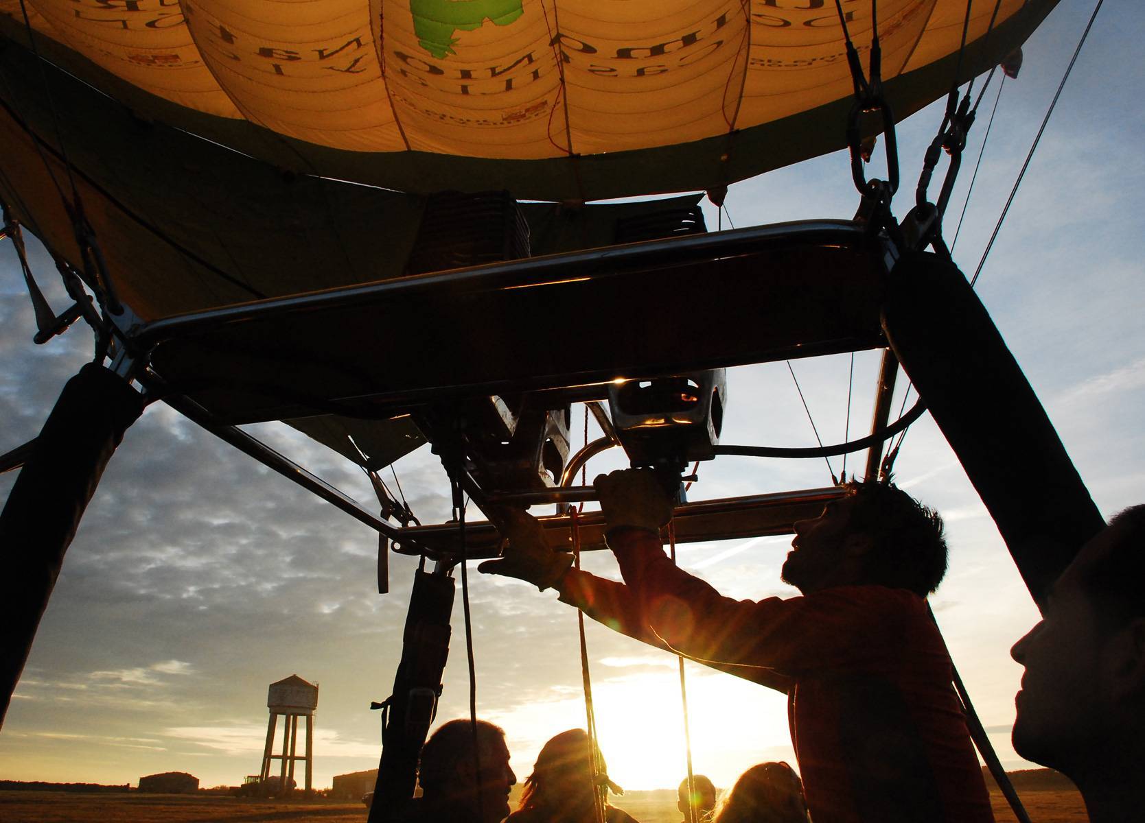
[[[309,147],[364,155],[515,161],[640,152],[734,137],[852,93],[832,0],[25,2],[41,40],[142,92]],[[884,79],[956,54],[968,2],[881,0]],[[1018,45],[1053,2],[969,2],[965,40],[977,62],[948,60],[925,89],[913,90],[910,110],[941,96],[956,72],[965,80],[996,62],[998,49]],[[864,64],[874,6],[839,6]],[[10,18],[6,31],[23,26],[19,0],[0,0],[0,15]],[[1027,22],[1008,27],[1011,18]],[[838,148],[843,126],[834,126],[838,137],[816,142],[799,129],[821,126],[803,120],[790,141],[815,152]],[[704,179],[732,182],[792,161],[798,151],[781,145],[783,136],[768,132],[752,145],[775,155],[771,165],[760,157],[725,171],[719,161],[729,150],[710,144],[703,163],[714,165]],[[688,160],[672,156],[670,164]],[[355,164],[344,165],[316,171],[357,179]],[[362,173],[384,185],[385,176]],[[394,187],[411,188],[402,180]]]

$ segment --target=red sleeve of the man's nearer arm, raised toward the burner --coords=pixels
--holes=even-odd
[[[702,660],[785,675],[868,664],[872,650],[862,638],[878,614],[886,614],[885,601],[897,596],[879,589],[878,598],[868,598],[861,587],[846,587],[810,598],[733,600],[679,569],[650,531],[613,532],[609,545],[652,631],[673,650]]]

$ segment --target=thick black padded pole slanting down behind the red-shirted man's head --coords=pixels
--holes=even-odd
[[[1042,604],[1105,527],[1026,375],[966,278],[934,254],[891,271],[883,330]]]

